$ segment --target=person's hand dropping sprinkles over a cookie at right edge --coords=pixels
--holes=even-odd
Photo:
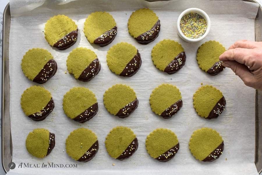
[[[219,60],[231,68],[245,85],[262,90],[262,42],[236,41]]]

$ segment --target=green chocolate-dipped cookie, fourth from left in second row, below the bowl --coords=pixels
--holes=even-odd
[[[170,39],[164,39],[157,43],[152,49],[151,57],[157,69],[167,74],[179,71],[186,61],[181,44]]]

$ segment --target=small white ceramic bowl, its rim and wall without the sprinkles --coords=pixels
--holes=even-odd
[[[203,16],[203,18],[206,20],[206,25],[207,25],[207,28],[206,28],[206,32],[199,38],[187,38],[181,31],[180,29],[180,20],[181,18],[187,14],[187,13],[198,13],[199,15]],[[190,42],[190,43],[193,43],[193,42],[198,42],[198,41],[201,41],[202,39],[204,39],[208,32],[210,31],[210,27],[211,27],[211,23],[210,23],[210,18],[209,16],[206,14],[206,12],[204,12],[203,10],[199,9],[199,8],[188,8],[186,9],[185,11],[183,11],[179,17],[178,17],[178,20],[177,20],[177,30],[178,30],[178,35],[180,36],[180,38],[182,38],[184,41],[186,42]]]

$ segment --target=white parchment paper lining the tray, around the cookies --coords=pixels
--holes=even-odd
[[[39,6],[39,7],[38,7]],[[128,34],[127,22],[132,11],[148,7],[155,11],[161,23],[158,38],[147,46],[139,45]],[[176,19],[186,8],[197,7],[205,10],[210,16],[211,30],[208,36],[198,43],[186,43],[176,34]],[[254,18],[258,5],[243,1],[168,1],[149,3],[134,1],[10,1],[10,115],[13,139],[13,162],[16,168],[10,173],[24,174],[71,174],[86,172],[89,174],[257,174],[254,164],[254,97],[255,91],[246,87],[230,69],[221,74],[208,76],[198,67],[197,48],[205,41],[216,40],[228,48],[238,39],[254,40]],[[26,9],[26,10],[25,10]],[[105,10],[111,13],[118,26],[118,34],[113,43],[104,48],[92,46],[83,33],[83,25],[88,14]],[[77,43],[65,51],[51,48],[45,41],[43,30],[47,19],[56,14],[68,15],[79,29]],[[174,39],[182,44],[187,55],[183,69],[176,74],[167,75],[155,68],[151,61],[153,46],[164,38]],[[142,65],[133,77],[119,77],[112,73],[106,64],[107,50],[114,44],[125,41],[137,47],[141,54]],[[66,58],[76,47],[94,50],[100,59],[102,69],[90,82],[79,82],[70,74],[65,74]],[[58,71],[43,86],[52,93],[55,108],[44,121],[35,122],[27,118],[20,108],[20,97],[31,85],[22,73],[20,63],[24,53],[33,47],[45,48],[54,56]],[[116,83],[123,83],[134,88],[139,99],[139,106],[128,118],[121,119],[109,114],[102,101],[103,93]],[[182,94],[183,107],[171,119],[156,116],[150,109],[149,96],[152,90],[162,83],[176,85]],[[218,119],[204,120],[194,111],[192,96],[201,86],[211,84],[219,88],[226,98],[227,106]],[[91,89],[97,99],[98,114],[79,124],[67,118],[62,109],[65,92],[74,86]],[[139,148],[128,160],[118,161],[111,158],[104,146],[105,136],[115,126],[128,126],[137,135]],[[56,146],[44,159],[32,157],[25,148],[27,134],[38,127],[44,127],[56,134]],[[87,163],[72,160],[65,152],[65,139],[78,127],[93,130],[100,143],[97,155]],[[173,130],[179,139],[180,150],[173,160],[161,163],[153,160],[144,146],[146,136],[155,128],[165,127]],[[188,149],[192,132],[201,127],[212,127],[223,137],[225,148],[223,155],[212,163],[195,160]],[[77,164],[77,168],[19,168],[20,163],[39,164],[54,162],[56,164]],[[112,164],[115,166],[112,166]]]

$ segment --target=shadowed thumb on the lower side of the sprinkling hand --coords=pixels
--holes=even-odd
[[[223,61],[223,66],[232,69],[232,71],[241,78],[247,86],[252,86],[254,82],[254,75],[249,71],[245,64],[240,64],[236,61]]]

